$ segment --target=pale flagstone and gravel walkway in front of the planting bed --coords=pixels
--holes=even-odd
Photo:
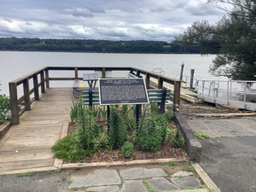
[[[147,181],[150,186],[159,191],[183,191],[188,187],[195,187],[194,192],[207,191],[207,189],[196,189],[201,185],[200,180],[197,177],[189,176],[191,172],[181,172],[183,169],[183,166],[120,166],[114,169],[102,167],[78,171],[40,172],[32,177],[0,176],[0,191],[147,192],[148,186],[143,181]],[[125,179],[121,175],[132,178]]]

